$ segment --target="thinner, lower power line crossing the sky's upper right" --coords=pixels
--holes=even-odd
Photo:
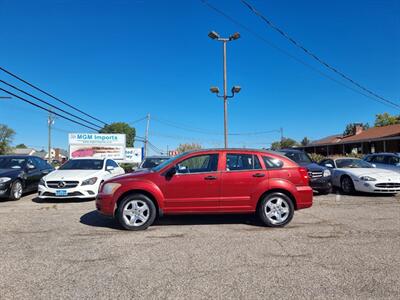
[[[392,108],[394,107],[394,108],[396,108],[396,109],[400,109],[400,106],[397,105],[396,103],[390,104],[390,103],[381,101],[381,100],[379,100],[379,99],[376,99],[375,97],[372,97],[372,96],[370,96],[369,94],[363,93],[363,92],[361,92],[360,90],[358,90],[358,89],[356,89],[356,88],[354,88],[354,87],[352,87],[352,86],[350,86],[350,85],[347,85],[347,84],[345,84],[344,82],[342,82],[342,81],[340,81],[340,80],[337,80],[336,78],[334,78],[334,77],[332,77],[332,76],[330,76],[330,75],[328,75],[328,74],[322,72],[321,70],[317,69],[317,68],[314,67],[313,65],[311,65],[311,64],[309,64],[309,63],[307,63],[307,62],[305,62],[304,60],[302,60],[302,59],[298,58],[297,56],[291,54],[290,52],[286,51],[285,49],[283,49],[283,48],[281,48],[281,47],[275,45],[275,44],[272,43],[272,42],[270,42],[270,41],[267,40],[265,37],[263,37],[262,35],[258,34],[258,33],[255,32],[254,30],[252,30],[250,27],[248,27],[248,26],[244,25],[243,23],[237,21],[235,18],[233,18],[232,16],[226,14],[225,12],[223,12],[223,11],[220,10],[219,8],[215,7],[214,5],[208,3],[206,0],[200,0],[200,1],[201,1],[204,5],[206,5],[208,8],[210,8],[210,9],[212,9],[213,11],[217,12],[218,14],[220,14],[221,16],[223,16],[224,18],[226,18],[227,20],[229,20],[231,23],[233,23],[233,24],[239,26],[240,28],[244,29],[245,31],[249,32],[250,34],[252,34],[252,35],[255,36],[256,38],[258,38],[259,40],[261,40],[262,42],[264,42],[265,44],[267,44],[269,47],[271,47],[271,48],[273,48],[273,49],[275,49],[275,50],[277,50],[277,51],[279,51],[279,52],[285,54],[287,57],[293,59],[294,61],[296,61],[296,62],[298,62],[298,63],[300,63],[300,64],[302,64],[303,66],[307,67],[308,69],[310,69],[310,70],[312,70],[312,71],[318,73],[318,74],[321,75],[322,77],[325,77],[326,79],[329,79],[329,80],[331,80],[331,81],[333,81],[333,82],[335,82],[335,83],[337,83],[337,84],[339,84],[339,85],[341,85],[341,86],[343,86],[343,87],[345,87],[345,88],[347,88],[347,89],[349,89],[349,90],[351,90],[351,91],[353,91],[353,92],[355,92],[355,93],[358,93],[358,94],[360,94],[360,95],[363,95],[363,96],[366,97],[366,98],[369,98],[369,99],[374,100],[374,101],[376,101],[376,102],[379,102],[379,103],[381,103],[381,104],[390,106],[390,107],[392,107]]]

